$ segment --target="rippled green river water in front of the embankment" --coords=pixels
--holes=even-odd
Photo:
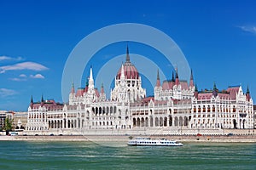
[[[256,169],[255,143],[183,144],[0,141],[0,169]]]

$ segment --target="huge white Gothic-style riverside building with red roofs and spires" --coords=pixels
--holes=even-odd
[[[193,74],[189,82],[160,82],[157,72],[154,97],[146,97],[142,79],[130,61],[127,47],[125,63],[115,77],[110,99],[103,85],[94,87],[92,68],[85,88],[69,94],[68,104],[53,99],[33,102],[28,107],[28,134],[224,134],[225,129],[253,128],[253,99],[249,89],[230,86],[219,91],[198,91]],[[227,131],[226,131],[227,132]]]

